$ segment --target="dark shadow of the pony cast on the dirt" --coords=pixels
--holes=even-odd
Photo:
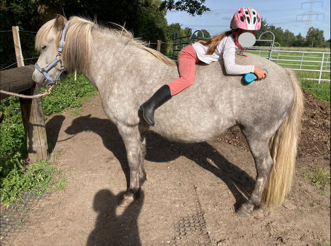
[[[108,119],[100,119],[87,115],[75,118],[72,121],[72,125],[65,130],[67,134],[71,135],[84,131],[92,131],[102,138],[104,146],[112,151],[121,163],[127,183],[129,183],[129,167],[125,145],[116,126]],[[146,143],[147,153],[145,159],[148,161],[168,162],[184,156],[220,178],[234,195],[236,199],[235,208],[238,208],[240,204],[247,201],[247,197],[250,197],[253,191],[255,179],[229,162],[207,142],[171,142],[150,132],[146,135]],[[208,159],[211,159],[216,166],[210,164]]]

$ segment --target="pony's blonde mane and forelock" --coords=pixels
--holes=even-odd
[[[66,21],[65,18],[64,20]],[[56,19],[48,21],[39,29],[35,42],[35,48],[39,52],[46,43],[47,36],[54,24],[56,24]],[[92,22],[91,20],[77,16],[70,17],[62,53],[62,63],[68,71],[74,71],[77,69],[82,73],[89,71],[93,45],[91,32],[94,28],[102,29],[96,22]],[[146,50],[159,60],[163,61],[163,63],[169,66],[176,66],[175,61],[169,59],[160,52],[147,47],[146,42],[133,38],[132,33],[126,30],[123,26],[120,26],[120,30],[111,30],[123,40],[125,45],[132,45]],[[60,42],[61,33],[61,28],[59,28],[56,38],[57,43]]]

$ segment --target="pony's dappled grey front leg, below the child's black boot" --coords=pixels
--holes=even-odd
[[[141,184],[146,179],[144,166],[142,164],[143,152],[141,148],[141,136],[137,126],[128,127],[120,125],[118,130],[125,144],[127,160],[130,168],[130,185],[127,188],[120,206],[130,205],[134,198],[139,196]],[[143,171],[143,174],[140,174]],[[141,180],[144,179],[144,180]]]

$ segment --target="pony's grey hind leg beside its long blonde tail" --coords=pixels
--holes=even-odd
[[[245,136],[255,161],[257,177],[249,200],[236,210],[236,213],[243,217],[247,217],[254,209],[260,206],[265,183],[273,163],[269,151],[269,138],[256,139],[254,137],[247,137],[246,134]]]

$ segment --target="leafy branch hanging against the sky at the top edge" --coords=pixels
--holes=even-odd
[[[180,10],[186,11],[192,16],[202,15],[203,12],[210,11],[205,5],[203,5],[206,0],[163,0],[160,8],[161,9],[168,9],[168,10]]]

